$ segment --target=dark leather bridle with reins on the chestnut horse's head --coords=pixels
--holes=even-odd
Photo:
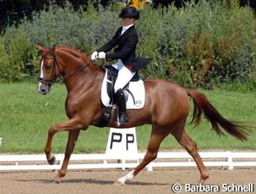
[[[59,64],[58,64],[56,54],[52,54],[52,57],[44,57],[44,59],[53,59],[53,65],[51,67],[51,69],[52,69],[51,77],[52,78],[39,78],[40,83],[43,83],[43,84],[47,85],[48,87],[51,87],[55,83],[59,83],[60,81],[64,80],[65,78],[69,78],[74,73],[77,73],[78,71],[86,68],[89,65],[89,64],[82,65],[80,68],[74,70],[73,72],[63,75],[63,74],[60,74]],[[59,71],[59,75],[56,75],[56,66]]]

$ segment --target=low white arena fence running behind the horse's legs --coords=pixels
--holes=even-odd
[[[256,167],[256,152],[201,152],[201,158],[207,167],[233,169],[235,167]],[[69,169],[135,168],[145,153],[125,155],[111,154],[73,154]],[[56,164],[49,165],[45,154],[3,155],[0,154],[0,171],[22,170],[58,170],[64,160],[64,154],[55,154]],[[192,157],[186,152],[159,152],[158,158],[146,167],[196,167]]]

